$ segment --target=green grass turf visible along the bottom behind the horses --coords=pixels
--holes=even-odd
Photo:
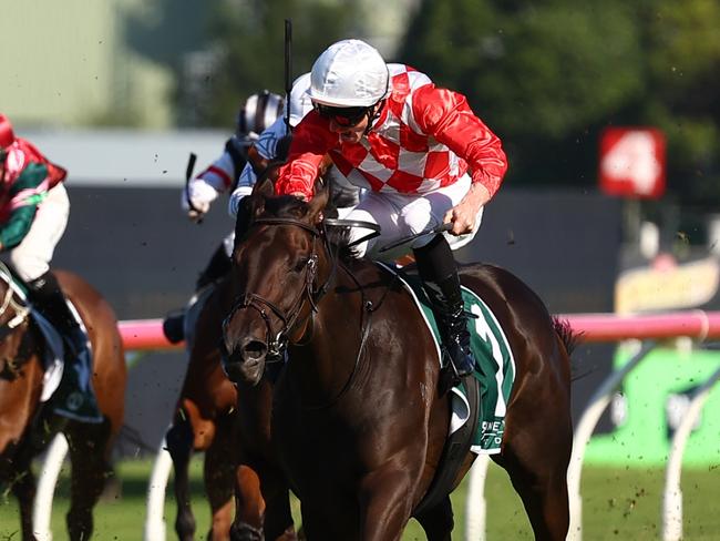
[[[97,540],[141,541],[145,521],[145,496],[151,463],[126,461],[117,466],[122,486],[114,496],[97,504],[95,538]],[[197,539],[203,539],[209,523],[207,506],[199,482],[202,460],[192,466],[193,506],[198,524]],[[53,508],[53,541],[66,540],[64,512],[68,508],[68,480],[63,477],[58,487]],[[583,471],[584,539],[657,540],[660,539],[660,498],[664,484],[661,469],[614,469],[586,467]],[[464,539],[465,484],[453,494],[455,509],[454,540]],[[720,467],[686,470],[682,473],[685,496],[685,541],[720,539]],[[485,496],[487,498],[487,540],[533,539],[520,499],[513,492],[503,470],[491,465]],[[165,508],[167,539],[175,539],[174,504],[167,500]],[[297,504],[295,507],[297,512]],[[17,504],[8,496],[0,504],[0,541],[19,541]],[[420,527],[409,524],[403,540],[425,539]]]

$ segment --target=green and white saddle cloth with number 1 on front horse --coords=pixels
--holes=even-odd
[[[390,265],[382,263],[380,265],[391,273],[398,273],[399,278],[414,298],[425,324],[435,339],[438,361],[441,363],[440,333],[420,278],[415,275],[405,275],[398,272],[397,268]],[[473,376],[477,379],[481,390],[480,419],[470,450],[479,455],[496,455],[500,452],[503,440],[507,401],[515,381],[515,359],[507,338],[490,307],[475,293],[464,286],[462,295],[465,310],[476,316],[467,319],[467,328],[470,330],[471,347],[477,363]],[[450,433],[453,433],[467,422],[470,406],[462,384],[451,389],[451,392]]]

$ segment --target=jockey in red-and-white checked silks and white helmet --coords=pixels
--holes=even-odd
[[[295,130],[276,192],[311,198],[329,154],[352,184],[370,191],[347,217],[381,226],[379,237],[358,245],[359,255],[394,258],[379,248],[451,224],[449,234],[419,236],[405,249],[415,256],[455,378],[471,374],[475,360],[452,249],[475,236],[503,181],[507,161],[500,139],[465,96],[409,65],[385,64],[360,40],[339,41],[320,54],[308,93],[315,111]]]

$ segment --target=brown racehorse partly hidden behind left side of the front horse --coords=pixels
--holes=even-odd
[[[175,530],[182,541],[194,539],[188,465],[195,450],[205,451],[213,517],[208,540],[230,539],[232,530],[239,539],[260,539],[264,532],[266,539],[289,541],[297,538],[287,482],[269,445],[271,384],[240,386],[238,396],[220,365],[222,323],[232,307],[233,287],[228,279],[217,282],[200,309],[178,414],[166,437],[175,471]]]

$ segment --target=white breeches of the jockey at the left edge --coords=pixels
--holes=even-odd
[[[25,282],[33,280],[50,269],[50,262],[68,225],[70,200],[65,186],[58,184],[40,203],[30,231],[22,242],[10,251],[10,262]]]

